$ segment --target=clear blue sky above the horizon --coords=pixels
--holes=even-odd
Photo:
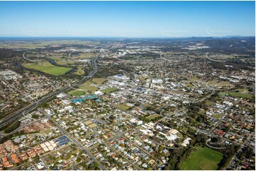
[[[0,37],[255,35],[255,1],[0,1]]]

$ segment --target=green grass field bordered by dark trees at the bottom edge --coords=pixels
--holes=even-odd
[[[223,155],[210,148],[196,147],[181,165],[181,170],[217,170]]]

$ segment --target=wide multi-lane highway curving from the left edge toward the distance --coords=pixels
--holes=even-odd
[[[101,54],[104,55],[104,54]],[[98,71],[98,66],[96,64],[96,60],[101,57],[94,57],[91,60],[91,65],[94,67],[94,69],[91,71],[91,73],[89,73],[88,76],[85,76],[82,80],[77,81],[76,83],[72,84],[71,86],[79,86],[80,84],[84,83],[84,81],[87,81],[89,78],[91,78],[92,76],[94,76],[94,74]],[[70,86],[67,86],[65,88],[62,88],[61,90],[57,90],[54,93],[50,93],[49,95],[46,95],[45,97],[43,97],[42,99],[38,100],[37,102],[33,102],[30,105],[27,105],[26,107],[23,107],[22,109],[14,112],[13,114],[9,115],[8,117],[5,117],[4,119],[1,120],[0,122],[0,128],[3,126],[6,126],[6,124],[9,124],[10,122],[14,122],[16,121],[18,118],[22,117],[23,114],[26,114],[32,110],[34,110],[36,107],[38,107],[40,105],[40,103],[42,102],[47,102],[48,100],[52,99],[55,97],[55,95],[58,95],[62,92],[66,92],[68,90],[72,90],[72,88]]]

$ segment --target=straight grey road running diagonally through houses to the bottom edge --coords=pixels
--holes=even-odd
[[[44,112],[45,113],[45,112]],[[87,155],[89,155],[89,157],[94,160],[94,162],[99,164],[99,167],[101,168],[101,170],[106,170],[105,167],[103,165],[101,165],[101,163],[99,163],[99,161],[97,161],[93,155],[91,155],[91,153],[89,153],[89,151],[87,151],[86,148],[84,148],[84,146],[82,146],[81,143],[79,143],[77,141],[76,138],[74,138],[73,136],[71,136],[65,129],[62,128],[62,126],[60,126],[57,122],[55,122],[54,119],[52,119],[52,117],[50,117],[48,114],[45,113],[45,117],[47,117],[48,119],[50,119],[55,126],[57,126],[58,129],[60,129],[60,131],[62,131],[63,134],[65,134],[65,136],[67,136],[71,141],[73,141],[80,149],[81,151],[84,151],[85,153],[87,153]]]

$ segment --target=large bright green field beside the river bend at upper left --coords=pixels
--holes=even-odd
[[[44,73],[49,73],[49,74],[55,75],[55,76],[63,75],[67,71],[72,69],[72,68],[66,68],[66,67],[62,67],[62,66],[54,66],[54,65],[50,64],[48,61],[23,64],[23,66],[27,69],[35,69],[35,70],[42,71]]]

